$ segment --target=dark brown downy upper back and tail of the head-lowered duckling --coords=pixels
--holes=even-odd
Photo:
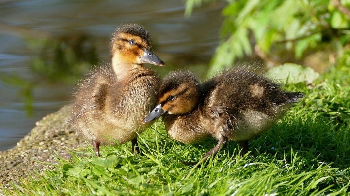
[[[269,116],[283,105],[296,103],[304,95],[286,92],[281,85],[261,74],[234,69],[213,79],[208,106],[217,112],[255,110]],[[291,105],[290,105],[291,106]]]

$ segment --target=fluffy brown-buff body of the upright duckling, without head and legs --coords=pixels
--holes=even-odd
[[[126,80],[118,80],[111,67],[99,67],[80,84],[71,124],[101,144],[108,144],[108,137],[121,144],[133,140],[151,125],[143,125],[141,120],[156,105],[159,83],[150,69],[141,67]]]

